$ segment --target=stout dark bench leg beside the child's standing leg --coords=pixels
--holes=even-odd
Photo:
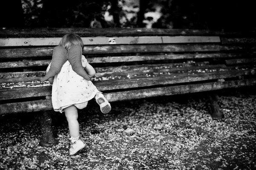
[[[58,144],[57,139],[53,137],[52,118],[49,112],[50,111],[43,111],[43,114],[39,118],[42,132],[39,145],[43,147],[52,147],[53,145]]]

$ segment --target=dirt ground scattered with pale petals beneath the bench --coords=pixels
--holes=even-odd
[[[38,145],[41,113],[0,116],[1,170],[253,170],[256,88],[221,91],[224,119],[213,120],[205,93],[113,102],[79,111],[87,146],[69,155],[64,114],[52,114],[58,144]]]

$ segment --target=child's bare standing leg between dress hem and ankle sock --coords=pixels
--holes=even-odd
[[[79,122],[77,121],[78,112],[76,106],[72,105],[67,108],[64,108],[65,116],[68,122],[68,128],[71,137],[79,136]]]

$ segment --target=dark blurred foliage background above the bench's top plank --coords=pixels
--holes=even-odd
[[[146,27],[218,31],[255,30],[256,10],[250,0],[3,0],[1,27]],[[123,8],[129,4],[128,8]],[[134,10],[135,9],[135,10]],[[108,12],[113,20],[105,20]],[[127,19],[128,14],[132,15]],[[125,18],[125,20],[123,19]]]

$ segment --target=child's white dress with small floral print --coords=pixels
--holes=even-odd
[[[82,65],[86,66],[87,59],[82,56]],[[70,62],[62,66],[61,71],[55,75],[52,84],[52,106],[54,111],[63,112],[64,108],[75,105],[82,109],[87,102],[93,99],[98,91],[91,81],[87,81],[73,71]]]

